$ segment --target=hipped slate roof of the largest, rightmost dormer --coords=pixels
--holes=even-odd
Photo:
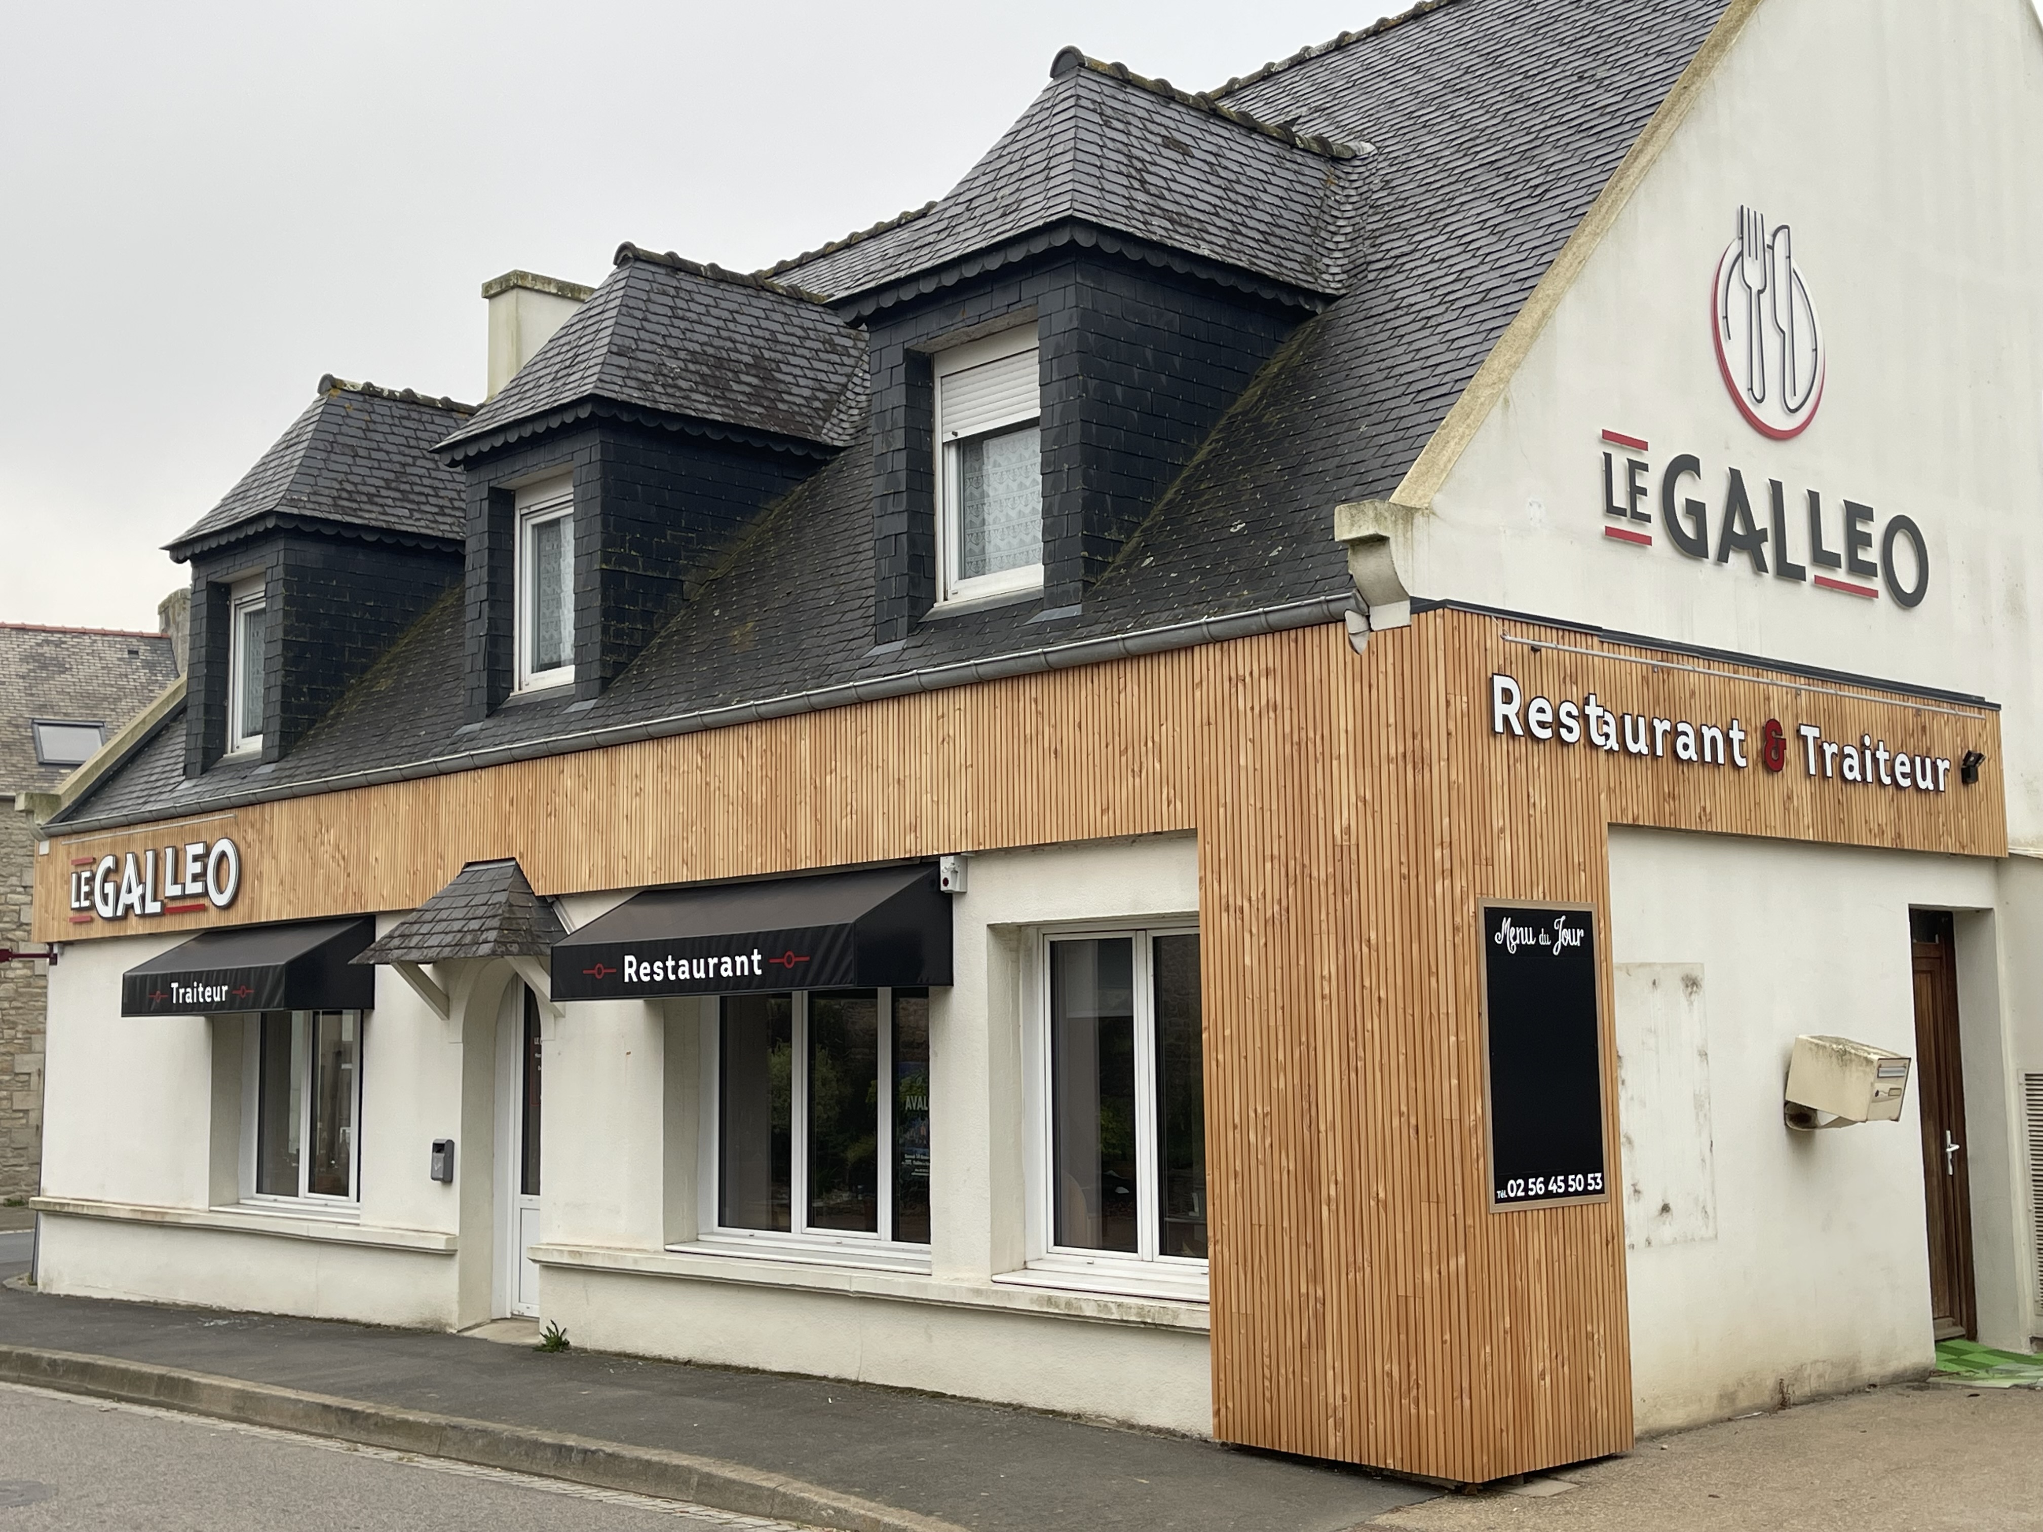
[[[1075,49],[1056,67],[1062,74],[923,217],[772,274],[842,298],[1079,219],[1310,292],[1344,288],[1340,192],[1361,178],[1352,149]]]

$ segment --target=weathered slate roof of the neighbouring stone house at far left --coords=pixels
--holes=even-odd
[[[163,633],[0,623],[0,793],[55,793],[74,770],[37,762],[35,719],[100,723],[112,739],[176,678]]]

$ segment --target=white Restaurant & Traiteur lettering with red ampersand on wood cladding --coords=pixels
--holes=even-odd
[[[1767,719],[1753,733],[1739,719],[1698,725],[1649,713],[1618,713],[1604,707],[1596,692],[1579,703],[1571,697],[1559,703],[1549,697],[1528,699],[1518,680],[1502,672],[1489,676],[1489,729],[1518,739],[1587,744],[1610,754],[1671,758],[1677,764],[1710,770],[1743,772],[1759,764],[1769,772],[1781,772],[1794,758],[1808,776],[1833,782],[1908,793],[1947,793],[1951,786],[1949,758],[1890,750],[1886,739],[1873,739],[1869,733],[1857,739],[1824,739],[1814,723],[1798,723],[1790,739],[1779,719]]]

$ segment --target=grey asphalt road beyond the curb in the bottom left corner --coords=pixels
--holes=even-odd
[[[0,1532],[795,1532],[582,1485],[0,1385]]]

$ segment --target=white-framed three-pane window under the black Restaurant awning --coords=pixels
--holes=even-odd
[[[928,1266],[930,991],[721,997],[701,1121],[703,1244]]]

